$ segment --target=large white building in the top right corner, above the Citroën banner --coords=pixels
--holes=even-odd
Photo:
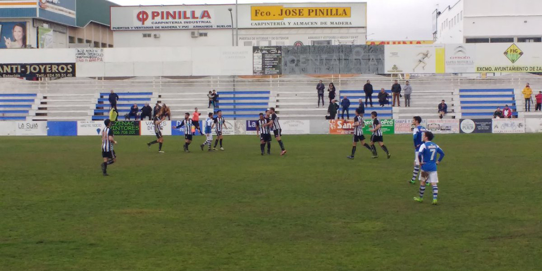
[[[459,0],[439,11],[435,43],[542,42],[540,0]]]

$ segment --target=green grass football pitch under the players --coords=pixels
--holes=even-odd
[[[540,134],[437,135],[439,205],[412,201],[411,135],[3,137],[0,270],[542,270]],[[431,192],[426,192],[430,199]]]

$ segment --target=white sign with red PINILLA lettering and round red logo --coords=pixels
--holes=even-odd
[[[111,30],[230,28],[235,5],[167,5],[111,7]]]

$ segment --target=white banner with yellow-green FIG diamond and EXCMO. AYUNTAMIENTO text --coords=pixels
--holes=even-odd
[[[476,73],[540,73],[542,50],[537,43],[476,44]]]

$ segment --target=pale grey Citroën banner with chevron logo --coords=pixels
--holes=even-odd
[[[476,44],[446,44],[446,72],[473,73]]]

